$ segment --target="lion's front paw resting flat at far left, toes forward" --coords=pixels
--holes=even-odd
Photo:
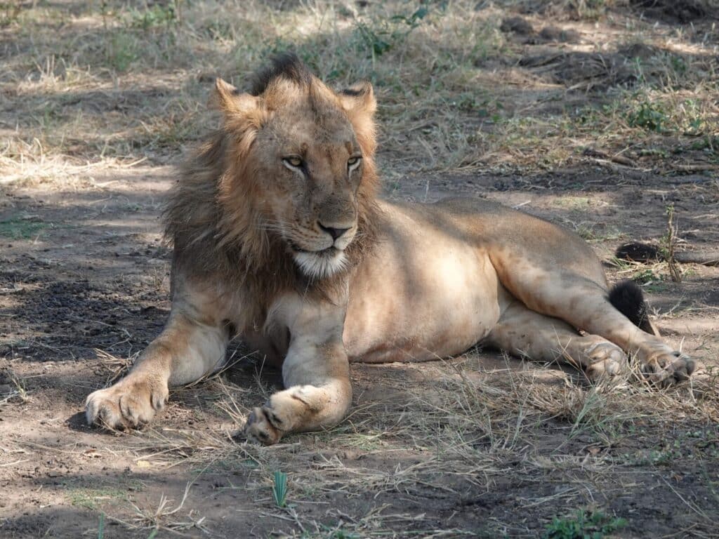
[[[168,386],[130,374],[104,390],[88,395],[85,414],[89,425],[111,429],[135,428],[149,423],[165,407]]]

